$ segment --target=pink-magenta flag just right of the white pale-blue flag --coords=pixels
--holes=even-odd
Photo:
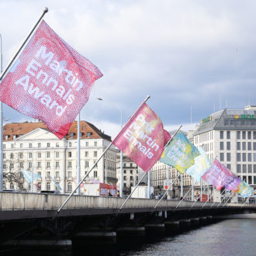
[[[212,166],[202,175],[202,178],[219,190],[234,180],[232,173],[227,168],[224,168],[223,164],[216,159],[213,161]]]

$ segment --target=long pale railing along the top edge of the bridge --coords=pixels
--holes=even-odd
[[[0,209],[4,210],[26,210],[26,209],[59,209],[67,199],[68,195],[22,193],[22,192],[0,192]],[[123,205],[125,198],[74,195],[67,202],[63,209],[119,209]],[[162,200],[157,208],[175,208],[177,200]],[[182,201],[179,207],[191,207],[194,202]],[[132,198],[126,202],[123,209],[154,209],[157,199],[136,199]],[[195,202],[195,206],[203,206],[204,202]],[[207,203],[211,206],[212,203]],[[222,204],[223,205],[223,204]],[[217,204],[215,205],[217,206]],[[220,205],[221,206],[221,205]],[[242,206],[237,203],[229,203],[226,206]]]

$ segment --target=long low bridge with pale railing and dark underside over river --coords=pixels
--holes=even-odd
[[[106,234],[141,234],[147,230],[173,230],[218,216],[256,213],[255,205],[159,199],[129,199],[74,195],[61,212],[68,195],[0,192],[1,243],[45,234],[62,239]],[[179,204],[179,206],[178,206]],[[178,206],[178,207],[177,207]],[[1,245],[1,244],[0,244]]]

